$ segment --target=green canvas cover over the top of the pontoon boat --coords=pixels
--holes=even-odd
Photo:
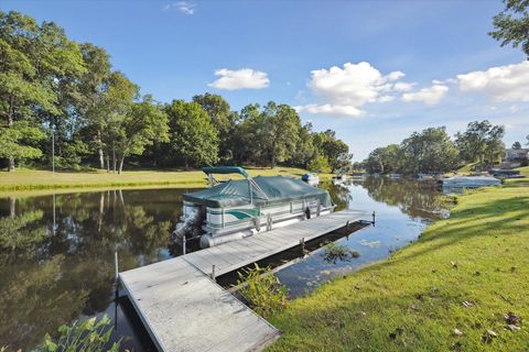
[[[257,176],[253,180],[267,194],[268,200],[252,187],[252,200],[256,206],[266,207],[279,202],[317,198],[323,207],[333,205],[326,190],[312,187],[301,179],[283,176]],[[246,179],[228,180],[212,188],[185,194],[184,200],[207,206],[225,208],[244,206],[250,202],[248,182]]]

